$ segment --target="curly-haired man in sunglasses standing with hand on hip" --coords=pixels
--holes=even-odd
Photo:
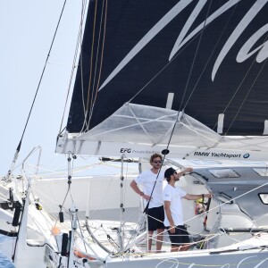
[[[138,178],[132,180],[130,187],[144,199],[148,205],[147,224],[148,224],[148,251],[152,250],[153,233],[157,231],[156,252],[160,252],[163,242],[163,172],[159,172],[162,165],[162,155],[151,155],[150,163],[152,168],[149,171],[141,172]],[[142,190],[138,188],[142,186]]]

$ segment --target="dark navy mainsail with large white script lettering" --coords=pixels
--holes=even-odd
[[[263,135],[268,0],[90,1],[67,130],[125,103],[183,111],[222,134]]]

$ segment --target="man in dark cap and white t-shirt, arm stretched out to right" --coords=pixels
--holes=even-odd
[[[192,168],[187,168],[183,172],[177,173],[173,168],[164,172],[164,178],[168,184],[163,189],[163,206],[164,206],[164,226],[172,242],[172,252],[186,251],[189,248],[188,231],[184,226],[181,198],[188,200],[197,200],[204,197],[212,197],[211,194],[190,195],[181,188],[175,188],[176,181],[185,175],[186,172],[192,172]]]

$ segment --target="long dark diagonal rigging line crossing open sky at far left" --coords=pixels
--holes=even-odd
[[[12,163],[12,165],[11,165],[11,168],[10,168],[10,170],[7,172],[7,179],[9,178],[9,176],[11,175],[11,173],[12,173],[12,171],[13,171],[13,166],[14,166],[14,164],[16,163],[16,160],[17,160],[17,158],[18,158],[19,152],[20,152],[20,150],[21,150],[22,139],[23,139],[23,137],[24,137],[26,128],[27,128],[27,126],[28,126],[28,123],[29,123],[29,117],[30,117],[30,115],[31,115],[33,106],[34,106],[34,104],[35,104],[35,102],[36,102],[36,99],[37,99],[37,96],[38,96],[38,91],[39,91],[39,88],[40,88],[40,85],[41,85],[41,81],[43,80],[43,76],[44,76],[44,73],[45,73],[45,70],[46,70],[46,65],[47,65],[47,62],[48,62],[48,58],[49,58],[49,56],[50,56],[50,52],[51,52],[51,50],[52,50],[52,46],[54,45],[54,38],[55,38],[56,33],[57,33],[57,31],[58,31],[60,22],[61,22],[61,20],[62,20],[63,10],[64,10],[64,7],[65,7],[65,4],[66,4],[66,0],[65,0],[64,3],[63,3],[62,12],[61,12],[60,18],[59,18],[59,20],[58,20],[56,29],[55,29],[55,31],[54,31],[54,37],[52,38],[52,42],[51,42],[50,48],[49,48],[49,50],[48,50],[48,54],[47,54],[47,56],[46,56],[46,62],[45,62],[43,71],[42,71],[42,73],[41,73],[41,77],[40,77],[39,82],[38,82],[38,88],[37,88],[37,90],[36,90],[36,94],[35,94],[35,96],[34,96],[34,99],[33,99],[33,101],[32,101],[32,104],[31,104],[31,106],[30,106],[30,109],[29,109],[28,118],[27,118],[27,121],[26,121],[26,123],[25,123],[24,130],[22,131],[21,140],[20,140],[19,145],[18,145],[18,147],[17,147],[17,149],[16,149],[16,152],[15,152],[15,154],[14,154],[14,157],[13,157],[13,163]]]

